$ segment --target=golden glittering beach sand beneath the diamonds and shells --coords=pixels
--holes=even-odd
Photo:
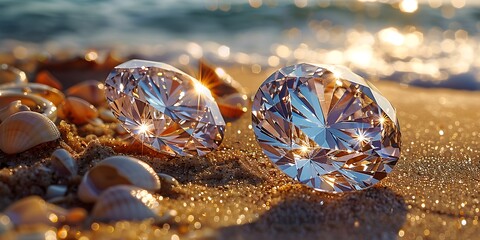
[[[231,71],[251,92],[269,74]],[[480,236],[480,93],[376,86],[398,110],[402,157],[373,188],[345,194],[316,192],[286,177],[262,154],[250,115],[228,124],[222,146],[206,157],[164,157],[131,139],[112,138],[103,127],[60,124],[62,140],[27,152],[0,153],[0,208],[27,195],[43,196],[51,184],[67,184],[60,205],[91,209],[70,181],[45,170],[58,147],[76,154],[83,175],[115,154],[128,154],[181,186],[156,196],[172,219],[153,223],[86,223],[56,229],[58,236],[90,239],[476,239]],[[163,213],[162,212],[162,213]],[[161,214],[161,213],[160,213]],[[79,230],[80,232],[77,232]]]

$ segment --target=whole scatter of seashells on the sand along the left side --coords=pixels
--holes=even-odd
[[[39,73],[37,82],[30,83],[20,70],[7,65],[2,65],[2,69],[23,76],[13,81],[0,78],[0,150],[5,154],[17,154],[42,143],[61,141],[57,128],[60,120],[76,125],[117,121],[106,106],[101,82],[84,81],[63,93],[60,82],[48,72]],[[79,178],[77,160],[64,148],[52,153],[50,166],[52,172],[61,178]],[[80,207],[65,209],[56,205],[66,201],[67,193],[72,189],[66,184],[50,185],[44,198],[28,196],[0,214],[0,239],[8,239],[14,229],[30,229],[38,225],[58,228],[121,220],[164,222],[172,216],[160,214],[159,195],[155,193],[159,193],[161,187],[171,189],[178,186],[175,178],[157,174],[141,160],[111,156],[81,177],[78,191],[73,196],[92,207],[90,213]]]

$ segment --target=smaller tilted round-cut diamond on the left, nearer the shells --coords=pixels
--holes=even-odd
[[[205,155],[223,140],[225,122],[210,90],[160,62],[131,60],[105,81],[107,101],[122,126],[169,155]]]

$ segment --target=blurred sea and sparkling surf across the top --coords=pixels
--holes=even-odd
[[[477,0],[0,0],[0,53],[200,58],[253,73],[346,65],[422,87],[480,90]]]

